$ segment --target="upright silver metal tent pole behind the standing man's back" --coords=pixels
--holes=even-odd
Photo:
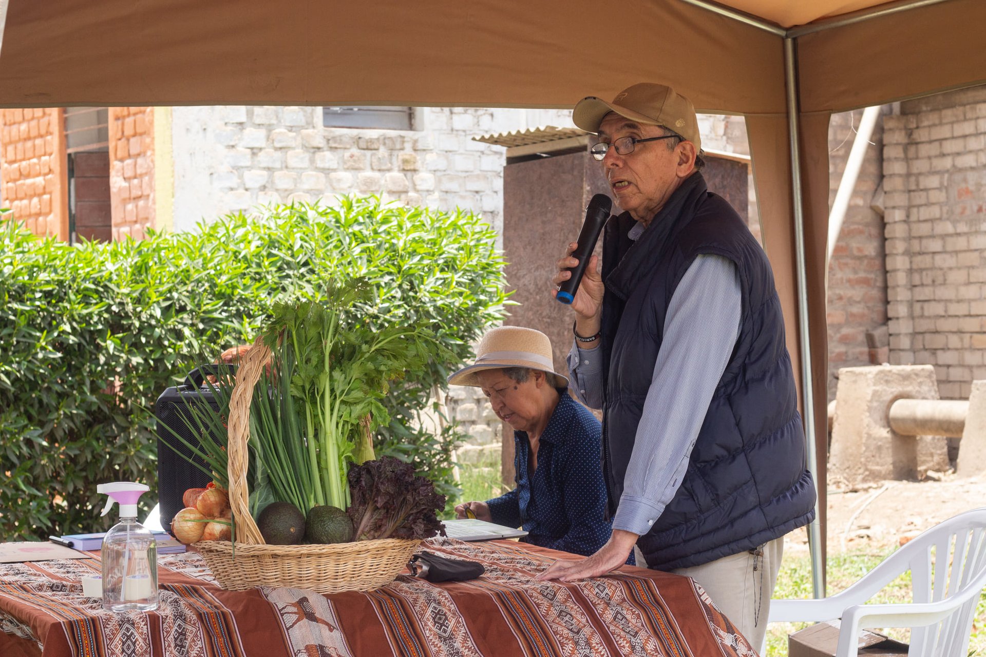
[[[805,437],[808,450],[808,469],[819,486],[818,462],[814,440],[814,394],[811,385],[811,346],[808,317],[808,275],[805,261],[805,199],[801,177],[801,116],[798,103],[798,61],[795,40],[784,39],[784,78],[787,91],[788,131],[791,133],[791,184],[795,218],[795,253],[798,266],[798,327],[801,333],[802,395],[805,399]],[[821,562],[821,525],[818,508],[819,495],[814,499],[814,520],[808,526],[808,542],[811,553],[811,588],[815,598],[825,597],[824,564]]]

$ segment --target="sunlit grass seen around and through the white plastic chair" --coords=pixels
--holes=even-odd
[[[833,595],[848,588],[864,574],[875,568],[892,550],[884,553],[852,552],[828,557],[828,594]],[[777,575],[775,599],[802,599],[811,597],[810,557],[785,555]],[[905,573],[884,587],[870,602],[903,603],[911,601],[911,575]],[[810,623],[774,623],[767,629],[768,657],[787,657],[788,634],[807,627]],[[875,629],[898,641],[907,642],[910,629],[887,627]],[[976,618],[972,623],[969,656],[986,655],[986,596],[980,597]]]

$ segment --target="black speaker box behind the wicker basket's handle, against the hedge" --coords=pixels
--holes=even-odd
[[[202,404],[209,404],[214,410],[219,409],[212,388],[204,383],[204,379],[205,374],[214,374],[220,368],[235,371],[232,365],[196,367],[188,373],[184,383],[172,386],[161,393],[154,407],[154,416],[158,424],[158,495],[161,504],[161,526],[169,531],[171,531],[172,518],[184,508],[181,502],[184,492],[188,489],[205,488],[212,481],[212,477],[188,462],[188,458],[191,458],[208,469],[201,458],[192,456],[192,451],[181,443],[175,433],[190,444],[198,444],[198,436],[187,424],[191,422],[191,426],[195,426],[190,409]]]

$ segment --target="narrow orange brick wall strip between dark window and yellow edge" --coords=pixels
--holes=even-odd
[[[154,227],[154,107],[109,108],[112,238]]]

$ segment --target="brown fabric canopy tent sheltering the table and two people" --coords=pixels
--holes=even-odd
[[[829,115],[986,82],[984,27],[981,0],[0,0],[0,106],[568,107],[654,81],[743,114],[813,436]]]

